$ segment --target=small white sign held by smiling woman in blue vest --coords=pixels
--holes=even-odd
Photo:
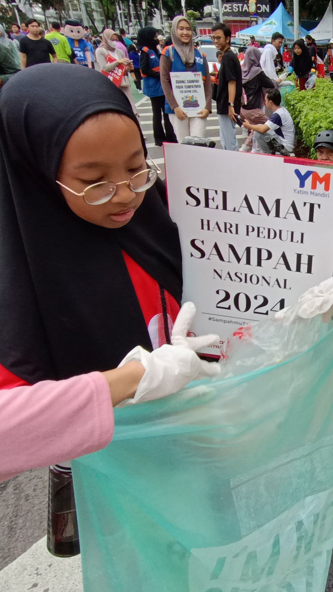
[[[170,72],[170,78],[178,107],[187,117],[197,117],[206,105],[201,72]]]

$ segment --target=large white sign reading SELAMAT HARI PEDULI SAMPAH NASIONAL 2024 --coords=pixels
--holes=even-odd
[[[181,239],[193,334],[274,316],[333,271],[333,167],[165,144],[169,212]]]

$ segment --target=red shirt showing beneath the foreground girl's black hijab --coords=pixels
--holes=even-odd
[[[159,348],[164,343],[167,343],[165,334],[166,318],[170,334],[180,307],[174,297],[166,290],[161,289],[158,282],[142,269],[132,257],[124,252],[123,256],[146,321],[153,349]],[[0,390],[27,384],[28,382],[18,378],[0,364]]]

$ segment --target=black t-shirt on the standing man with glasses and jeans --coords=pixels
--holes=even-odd
[[[217,87],[216,99],[217,114],[219,115],[228,115],[229,113],[228,82],[230,80],[236,81],[236,95],[233,101],[233,108],[239,115],[242,101],[242,69],[238,57],[231,49],[228,49],[223,54],[219,71],[219,85]]]

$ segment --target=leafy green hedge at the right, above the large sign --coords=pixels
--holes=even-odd
[[[333,83],[318,78],[316,88],[309,91],[296,89],[286,95],[286,108],[292,115],[296,128],[296,137],[305,146],[312,149],[313,141],[319,131],[333,130]]]

